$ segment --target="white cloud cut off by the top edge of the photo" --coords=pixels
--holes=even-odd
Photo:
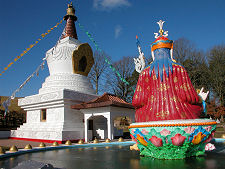
[[[130,6],[130,2],[128,0],[94,0],[93,6],[96,9],[112,9],[122,6]]]

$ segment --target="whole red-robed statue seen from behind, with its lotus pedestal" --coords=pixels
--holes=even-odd
[[[202,155],[216,128],[215,121],[200,119],[208,92],[202,89],[197,94],[185,68],[173,59],[173,41],[163,31],[163,23],[158,22],[159,34],[155,33],[151,44],[150,66],[140,66],[140,50],[135,59],[140,75],[132,102],[136,123],[129,127],[131,137],[144,156],[178,159]]]

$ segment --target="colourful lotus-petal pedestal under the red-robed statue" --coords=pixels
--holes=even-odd
[[[215,129],[216,122],[210,119],[152,121],[129,126],[140,155],[158,159],[203,155]]]

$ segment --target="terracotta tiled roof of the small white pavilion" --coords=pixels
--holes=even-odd
[[[109,93],[104,93],[102,96],[99,96],[94,100],[86,103],[76,104],[71,107],[72,109],[87,109],[106,106],[126,107],[131,109],[134,108],[132,104],[127,103],[123,99],[120,99],[119,97]]]

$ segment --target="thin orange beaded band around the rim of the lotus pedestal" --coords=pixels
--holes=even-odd
[[[142,127],[173,127],[173,126],[203,126],[214,125],[217,122],[205,122],[205,123],[183,123],[183,124],[145,124],[145,125],[133,125],[128,128],[142,128]]]

